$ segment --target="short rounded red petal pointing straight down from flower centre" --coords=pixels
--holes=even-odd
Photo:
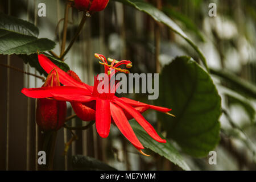
[[[95,118],[98,134],[102,138],[108,137],[111,124],[110,105],[108,100],[97,98]]]

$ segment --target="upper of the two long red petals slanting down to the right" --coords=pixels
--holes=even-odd
[[[123,109],[125,109],[128,113],[130,113],[134,117],[134,119],[139,123],[139,125],[141,125],[145,131],[147,131],[148,135],[150,135],[158,142],[166,143],[166,140],[159,137],[154,127],[152,127],[150,123],[148,123],[147,120],[136,109],[134,109],[132,106],[128,104],[125,104],[125,102],[122,101],[115,100],[114,102]]]

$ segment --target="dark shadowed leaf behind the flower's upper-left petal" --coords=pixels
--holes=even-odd
[[[52,61],[52,63],[56,64],[57,67],[59,67],[63,71],[69,71],[69,66],[63,61],[56,59],[55,57],[48,55],[47,53],[44,53],[44,55],[46,55]],[[19,55],[19,57],[23,59],[24,63],[29,64],[33,68],[36,68],[40,75],[48,75],[46,71],[44,71],[44,69],[40,66],[38,61],[38,55],[36,53],[32,55]]]

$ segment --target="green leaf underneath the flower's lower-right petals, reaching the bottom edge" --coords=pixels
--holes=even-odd
[[[172,163],[177,164],[177,166],[183,168],[184,170],[190,170],[187,163],[183,160],[179,152],[168,140],[166,143],[159,143],[156,140],[152,139],[146,131],[138,125],[134,120],[130,122],[131,127],[133,127],[134,133],[141,141],[144,147],[149,148],[150,150],[156,152],[157,154],[164,156],[164,158],[170,160]],[[163,138],[162,135],[159,134]]]

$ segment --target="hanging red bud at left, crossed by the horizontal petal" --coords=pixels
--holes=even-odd
[[[47,76],[42,87],[44,86],[60,86],[59,75],[55,69]],[[48,131],[63,127],[67,114],[66,102],[38,98],[36,104],[36,123],[40,129]]]

